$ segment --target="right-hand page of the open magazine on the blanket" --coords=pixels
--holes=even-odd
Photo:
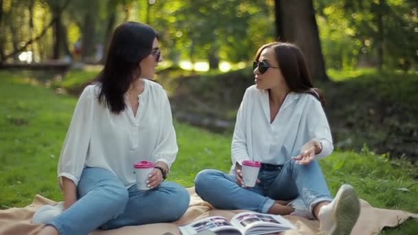
[[[241,212],[231,219],[231,224],[243,234],[267,234],[296,229],[292,223],[282,216],[261,214],[256,212]]]

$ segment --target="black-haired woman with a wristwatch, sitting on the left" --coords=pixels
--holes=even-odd
[[[81,94],[61,151],[65,210],[40,234],[170,222],[186,212],[186,189],[164,181],[178,148],[167,95],[151,81],[162,59],[152,27],[128,22],[115,29],[104,69]],[[133,165],[141,160],[155,163],[149,190],[135,186]]]

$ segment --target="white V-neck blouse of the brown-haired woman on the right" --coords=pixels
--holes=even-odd
[[[291,92],[270,124],[268,92],[255,85],[248,87],[236,115],[231,172],[236,162],[243,160],[285,164],[311,139],[322,144],[316,158],[331,154],[331,131],[319,100],[307,93]]]

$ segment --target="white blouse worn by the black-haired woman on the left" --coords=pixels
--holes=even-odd
[[[178,148],[170,103],[164,89],[144,80],[134,116],[128,97],[118,115],[98,102],[100,85],[89,85],[81,94],[58,162],[58,177],[78,185],[85,166],[113,172],[126,187],[135,183],[133,164],[140,160],[175,161]]]

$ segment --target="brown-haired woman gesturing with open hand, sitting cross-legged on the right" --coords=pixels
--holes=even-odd
[[[236,115],[230,174],[199,172],[197,194],[216,208],[302,215],[318,219],[325,234],[350,234],[360,201],[349,185],[332,199],[320,170],[318,159],[330,155],[333,144],[303,53],[291,43],[263,45],[254,76]],[[261,165],[251,188],[243,183],[244,161]]]

